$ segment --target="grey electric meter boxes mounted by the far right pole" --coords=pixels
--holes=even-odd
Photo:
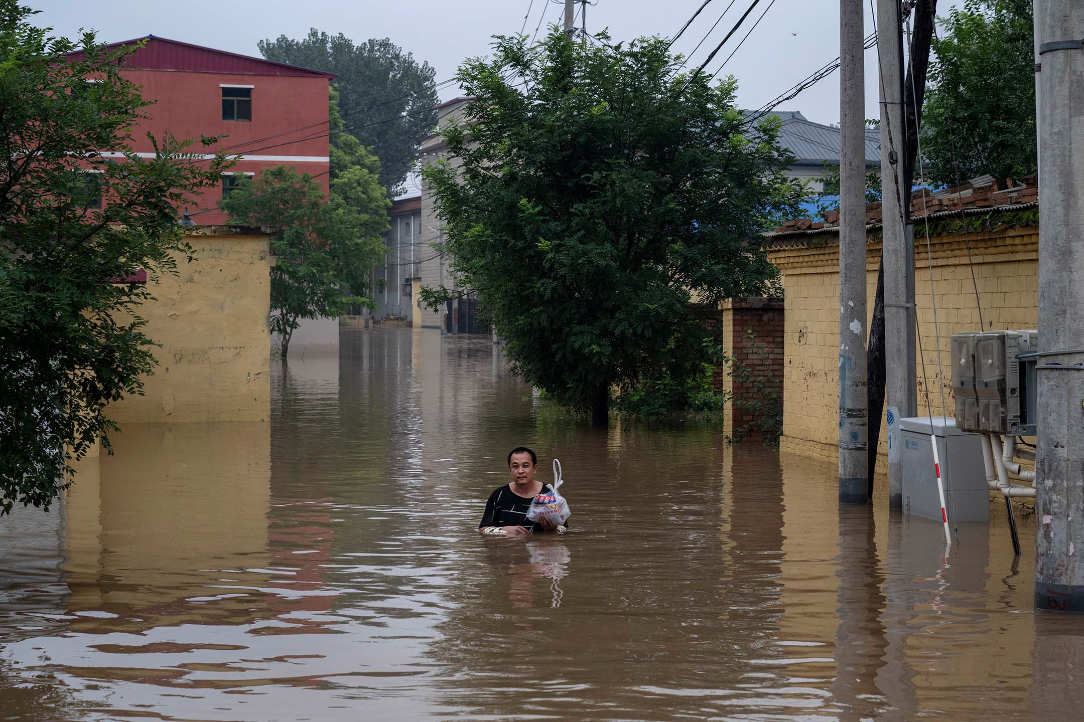
[[[1035,434],[1038,332],[988,331],[952,337],[956,428],[986,434]]]

